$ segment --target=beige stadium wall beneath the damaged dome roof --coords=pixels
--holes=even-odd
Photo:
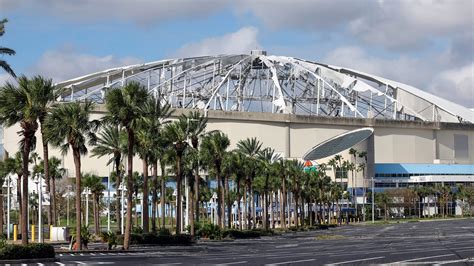
[[[102,107],[100,107],[102,108]],[[183,113],[178,110],[175,115]],[[311,147],[339,135],[361,128],[373,127],[375,130],[375,163],[433,163],[436,159],[436,143],[441,160],[453,160],[454,134],[469,136],[469,158],[456,163],[474,163],[474,126],[425,122],[404,122],[391,120],[371,120],[353,118],[305,117],[268,113],[209,112],[208,130],[221,130],[231,140],[231,149],[236,143],[247,137],[257,137],[264,147],[272,147],[285,157],[301,158]],[[93,118],[100,118],[94,114]],[[288,131],[288,127],[290,130]],[[3,143],[5,150],[13,155],[18,149],[20,138],[18,126],[5,129]],[[437,141],[434,132],[437,134]],[[41,136],[37,133],[36,152],[42,157]],[[90,148],[89,148],[90,149]],[[289,153],[288,153],[289,152]],[[289,154],[289,156],[288,156]],[[51,149],[50,156],[63,158],[58,150]],[[350,159],[347,151],[343,157]],[[320,160],[327,162],[329,158]],[[83,172],[95,172],[101,176],[109,173],[106,166],[108,158],[82,157]],[[72,155],[64,157],[64,166],[73,175]],[[134,169],[142,171],[138,158],[134,160]]]

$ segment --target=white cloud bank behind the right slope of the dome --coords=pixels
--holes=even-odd
[[[344,46],[330,52],[322,61],[357,69],[415,86],[466,107],[474,106],[474,64],[450,68],[444,55],[414,58],[380,58],[360,47]]]

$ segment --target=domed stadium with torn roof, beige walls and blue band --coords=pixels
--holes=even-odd
[[[100,119],[107,90],[130,81],[171,104],[174,116],[205,113],[208,130],[226,133],[231,148],[256,137],[284,158],[302,159],[318,143],[372,128],[373,134],[354,147],[367,151],[367,170],[347,180],[349,187],[367,187],[371,177],[379,188],[474,181],[474,111],[400,82],[260,50],[108,69],[57,83],[65,91],[57,100],[97,102],[93,118]],[[18,131],[18,126],[4,129],[0,149],[15,153]],[[41,147],[37,143],[39,154]],[[54,149],[50,154],[63,158],[73,175],[71,155]],[[351,160],[348,150],[340,154]],[[107,161],[85,156],[83,171],[107,176]],[[138,158],[135,165],[141,165]]]

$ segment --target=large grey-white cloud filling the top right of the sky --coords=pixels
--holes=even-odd
[[[236,8],[272,29],[343,30],[365,43],[400,50],[472,31],[473,5],[470,0],[246,0]]]

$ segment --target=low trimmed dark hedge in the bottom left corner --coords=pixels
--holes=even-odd
[[[49,244],[12,245],[6,244],[0,248],[0,260],[42,259],[54,258],[56,253]]]

